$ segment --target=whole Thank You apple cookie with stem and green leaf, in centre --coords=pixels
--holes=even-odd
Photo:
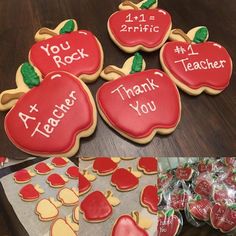
[[[111,81],[96,95],[98,110],[108,125],[141,144],[150,142],[156,133],[173,132],[181,116],[179,92],[171,79],[160,70],[144,69],[139,53],[121,69],[106,67],[101,77]]]

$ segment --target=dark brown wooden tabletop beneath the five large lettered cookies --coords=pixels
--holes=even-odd
[[[8,0],[0,1],[0,90],[15,87],[18,66],[27,60],[34,34],[42,26],[54,28],[64,19],[74,18],[80,29],[91,30],[104,46],[105,66],[122,65],[129,57],[110,40],[106,22],[120,1],[110,0]],[[236,4],[228,0],[160,0],[159,6],[172,15],[173,27],[188,31],[206,25],[210,40],[224,45],[233,60],[236,51]],[[143,53],[147,68],[161,68],[159,51]],[[90,84],[93,95],[104,83],[98,79]],[[99,117],[96,132],[81,141],[77,156],[230,156],[236,150],[236,81],[235,71],[230,86],[218,96],[191,97],[181,92],[182,119],[177,130],[169,136],[157,135],[145,146],[127,141]],[[0,113],[0,155],[24,159],[28,157],[8,140],[4,132],[4,117]],[[9,169],[8,171],[12,171]],[[1,172],[1,170],[0,170]],[[9,210],[9,208],[8,208]],[[14,217],[12,217],[14,219]],[[10,222],[10,228],[12,227]],[[18,226],[15,226],[17,230]],[[183,235],[216,235],[210,228],[186,228]],[[185,233],[186,232],[186,233]],[[2,233],[0,231],[0,233]],[[14,234],[16,235],[16,234]]]

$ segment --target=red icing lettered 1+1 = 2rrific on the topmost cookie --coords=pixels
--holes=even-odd
[[[161,46],[171,28],[171,17],[162,9],[115,12],[108,20],[109,29],[122,46]]]

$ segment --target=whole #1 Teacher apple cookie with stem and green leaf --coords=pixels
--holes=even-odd
[[[218,43],[207,42],[206,27],[196,27],[185,34],[180,29],[171,31],[170,40],[160,52],[164,71],[184,92],[199,95],[218,94],[229,85],[232,60],[227,50]]]

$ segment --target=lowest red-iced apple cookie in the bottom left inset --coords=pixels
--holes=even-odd
[[[27,184],[21,188],[19,196],[23,201],[32,202],[37,200],[41,193],[44,193],[44,190],[38,184],[35,186],[33,184]]]

